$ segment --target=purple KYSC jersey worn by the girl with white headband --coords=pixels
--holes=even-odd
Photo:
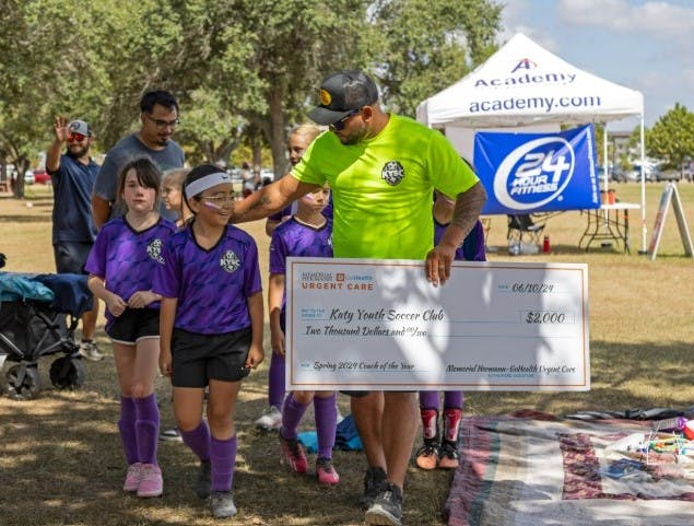
[[[262,290],[258,247],[250,235],[227,225],[216,245],[205,250],[191,224],[168,241],[162,255],[153,290],[178,299],[176,328],[223,335],[250,326],[247,299]]]

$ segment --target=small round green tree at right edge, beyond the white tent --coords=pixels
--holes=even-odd
[[[680,168],[694,154],[694,114],[677,103],[646,133],[646,151],[667,167]]]

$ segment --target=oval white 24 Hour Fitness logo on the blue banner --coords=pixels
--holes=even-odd
[[[526,142],[499,164],[494,195],[499,203],[516,210],[542,207],[564,191],[574,175],[575,160],[571,143],[561,137]]]

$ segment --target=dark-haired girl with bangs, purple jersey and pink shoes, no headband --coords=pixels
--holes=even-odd
[[[152,279],[162,262],[162,246],[176,226],[160,218],[160,180],[149,159],[123,167],[117,196],[127,212],[103,226],[85,265],[90,290],[106,304],[105,329],[118,372],[118,429],[128,463],[123,490],[138,496],[158,496],[163,491],[154,395],[161,296],[152,292]]]

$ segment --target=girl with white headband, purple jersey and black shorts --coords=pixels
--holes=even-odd
[[[192,168],[184,198],[193,219],[165,245],[153,288],[163,296],[160,369],[172,379],[183,440],[200,459],[196,493],[210,496],[214,517],[231,517],[236,399],[240,381],[263,359],[258,248],[228,224],[234,189],[222,168]]]

